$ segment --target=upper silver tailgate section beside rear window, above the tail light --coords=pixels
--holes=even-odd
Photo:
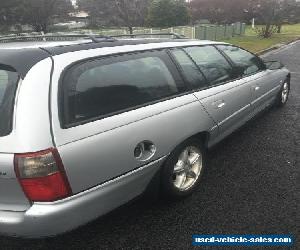
[[[0,137],[0,153],[36,152],[53,147],[49,116],[51,69],[51,59],[45,59],[19,82],[12,133]]]

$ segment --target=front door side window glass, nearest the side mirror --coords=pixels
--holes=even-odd
[[[248,51],[235,46],[221,45],[218,48],[234,62],[243,76],[255,74],[263,68],[261,60]]]

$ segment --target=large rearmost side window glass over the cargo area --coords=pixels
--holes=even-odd
[[[89,61],[71,68],[64,84],[67,124],[101,118],[179,91],[159,57]]]

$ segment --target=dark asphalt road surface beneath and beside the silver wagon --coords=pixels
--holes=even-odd
[[[139,199],[55,238],[0,237],[0,249],[190,249],[196,233],[297,237],[300,42],[267,58],[280,59],[293,72],[288,104],[262,113],[216,146],[191,197],[178,203]]]

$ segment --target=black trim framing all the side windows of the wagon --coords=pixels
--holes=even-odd
[[[232,70],[234,70],[234,66],[235,66],[234,62],[226,54],[224,54],[224,52],[222,52],[217,47],[219,45],[233,46],[233,47],[237,47],[237,48],[240,48],[242,50],[245,50],[245,51],[249,52],[250,54],[252,54],[252,55],[256,56],[257,58],[259,58],[259,60],[261,61],[262,65],[263,65],[262,59],[260,57],[258,57],[257,55],[255,55],[254,53],[252,53],[252,52],[250,52],[250,51],[248,51],[244,48],[241,48],[239,46],[236,46],[236,45],[223,44],[223,43],[218,43],[218,44],[212,43],[212,44],[203,44],[203,45],[201,45],[201,44],[199,44],[199,45],[183,45],[183,46],[176,46],[176,47],[171,47],[170,46],[170,47],[161,48],[161,49],[149,49],[149,50],[133,51],[133,52],[121,52],[121,53],[114,53],[114,54],[109,54],[109,55],[100,55],[100,56],[95,56],[95,57],[91,57],[91,58],[84,58],[84,59],[81,59],[81,60],[78,60],[78,61],[75,61],[75,62],[71,63],[70,65],[68,65],[63,70],[63,72],[60,75],[59,82],[58,82],[57,106],[58,106],[58,118],[59,118],[60,127],[62,129],[69,129],[69,128],[72,128],[72,127],[77,127],[77,126],[80,126],[80,125],[84,125],[84,124],[87,124],[87,123],[95,122],[95,121],[102,120],[102,119],[105,119],[105,118],[109,118],[109,117],[112,117],[112,116],[115,116],[115,115],[119,115],[119,114],[122,114],[122,113],[126,113],[126,112],[129,112],[129,111],[140,109],[142,107],[147,107],[147,106],[159,103],[159,102],[171,100],[171,99],[181,97],[181,96],[184,96],[184,95],[188,95],[188,94],[193,94],[195,92],[199,92],[199,91],[202,91],[202,90],[207,90],[207,89],[210,89],[210,88],[215,88],[215,87],[218,87],[218,86],[222,86],[222,85],[231,83],[233,81],[238,81],[238,80],[244,79],[246,77],[255,75],[257,73],[260,73],[260,72],[263,72],[263,71],[266,70],[266,69],[263,69],[259,72],[254,73],[254,74],[247,75],[247,76],[240,76],[240,77],[237,77],[237,78],[234,78],[232,76],[231,79],[229,79],[228,81],[220,82],[220,83],[215,84],[215,85],[210,85],[207,78],[205,77],[204,73],[202,72],[202,70],[199,68],[199,66],[196,64],[196,62],[193,60],[193,58],[191,58],[191,56],[184,49],[185,48],[190,48],[190,47],[208,47],[208,46],[214,47],[221,54],[221,56],[223,56],[225,58],[225,60],[229,63]],[[182,50],[192,60],[192,62],[198,68],[199,72],[205,78],[206,87],[193,88],[191,86],[191,84],[189,84],[189,82],[184,77],[182,69],[181,69],[180,65],[178,64],[177,60],[170,53],[170,50],[172,50],[172,49]],[[119,110],[119,111],[116,111],[116,112],[111,112],[107,115],[102,115],[102,116],[97,116],[97,117],[93,117],[93,118],[90,118],[90,119],[86,119],[84,121],[73,122],[73,123],[70,123],[70,124],[67,124],[65,122],[65,117],[64,117],[65,116],[65,107],[64,106],[65,106],[66,102],[64,100],[65,97],[64,97],[64,83],[63,83],[63,80],[64,80],[64,77],[66,75],[66,72],[68,70],[70,70],[70,68],[74,67],[75,65],[79,65],[81,63],[85,63],[85,62],[88,62],[88,61],[101,60],[101,59],[105,60],[105,59],[108,59],[108,58],[116,58],[116,57],[120,57],[120,56],[134,56],[134,55],[146,54],[146,53],[160,53],[159,58],[161,58],[162,61],[165,63],[165,65],[168,68],[168,70],[170,71],[170,74],[173,77],[177,87],[179,88],[178,93],[176,93],[174,95],[171,95],[171,96],[168,96],[168,97],[165,97],[165,98],[157,99],[155,101],[151,101],[151,102],[147,102],[147,103],[144,103],[144,104],[141,104],[141,105],[130,107],[130,108],[127,108],[127,109]],[[182,85],[181,86],[182,90],[180,90],[180,84]]]

